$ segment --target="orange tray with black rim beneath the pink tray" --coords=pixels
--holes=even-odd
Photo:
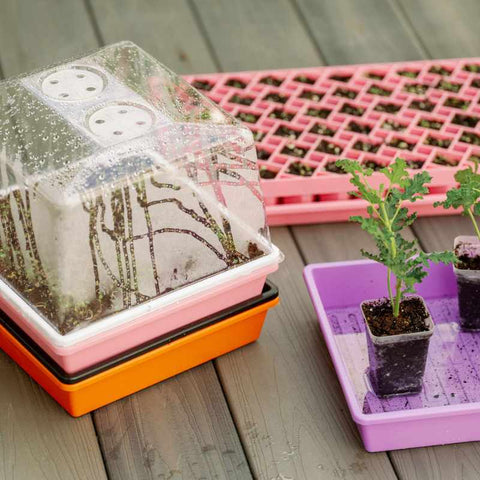
[[[70,415],[79,417],[254,342],[267,311],[278,301],[278,290],[267,282],[253,300],[70,376],[5,316],[0,318],[0,348]]]

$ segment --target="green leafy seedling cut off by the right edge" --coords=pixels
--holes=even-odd
[[[480,228],[475,216],[480,215],[480,166],[477,159],[472,160],[473,167],[459,170],[455,174],[458,187],[447,192],[447,198],[443,202],[435,202],[435,207],[461,208],[463,215],[469,217],[473,228],[480,240]]]

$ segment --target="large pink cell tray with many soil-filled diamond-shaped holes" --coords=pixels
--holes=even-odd
[[[480,156],[480,58],[185,78],[253,131],[270,225],[363,212],[348,176],[329,171],[338,158],[378,168],[401,156],[433,177],[419,214],[454,213],[433,203]]]

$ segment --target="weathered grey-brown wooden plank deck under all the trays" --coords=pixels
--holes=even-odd
[[[118,40],[178,73],[480,56],[478,0],[0,0],[0,75]],[[425,249],[465,219],[425,218]],[[307,295],[359,257],[349,224],[273,229],[282,302],[260,340],[80,419],[0,353],[0,479],[478,479],[477,443],[368,454]]]

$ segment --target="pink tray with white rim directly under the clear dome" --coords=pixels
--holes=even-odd
[[[66,335],[61,335],[1,280],[0,310],[66,373],[74,374],[259,295],[267,275],[277,270],[281,258],[273,247],[268,255]]]

